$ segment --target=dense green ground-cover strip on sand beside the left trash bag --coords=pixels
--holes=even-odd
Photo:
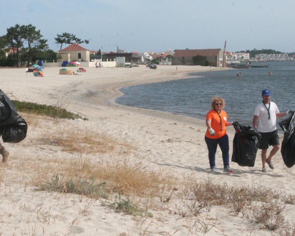
[[[18,101],[18,100],[11,100],[15,109],[20,112],[26,113],[33,113],[39,115],[48,115],[54,118],[64,118],[64,119],[83,119],[88,120],[88,118],[82,118],[78,114],[74,114],[65,110],[64,108],[59,108],[56,106],[47,106],[47,105],[40,105],[33,102],[26,102],[26,101]]]

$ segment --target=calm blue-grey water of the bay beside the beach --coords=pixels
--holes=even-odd
[[[280,112],[295,110],[295,61],[263,62],[266,64],[271,66],[193,73],[190,75],[195,75],[194,78],[128,86],[120,90],[124,95],[116,98],[116,102],[204,119],[210,110],[211,97],[218,95],[226,102],[224,110],[229,121],[252,125],[255,107],[262,101],[261,91],[265,88],[272,92],[271,101]]]

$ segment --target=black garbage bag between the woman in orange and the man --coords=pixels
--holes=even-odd
[[[233,125],[236,133],[231,161],[238,163],[239,166],[254,167],[261,135],[256,128],[251,126],[243,126],[238,122],[234,122]]]

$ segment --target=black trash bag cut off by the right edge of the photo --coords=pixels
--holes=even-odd
[[[281,154],[285,165],[291,168],[295,164],[295,112],[279,123],[284,130],[284,139],[281,147]]]

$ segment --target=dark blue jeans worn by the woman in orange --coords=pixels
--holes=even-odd
[[[217,144],[219,145],[221,151],[222,151],[222,160],[223,160],[223,168],[229,167],[229,143],[228,143],[228,136],[223,135],[219,139],[210,139],[205,136],[205,142],[208,147],[208,156],[209,156],[209,163],[210,168],[215,166],[215,153],[217,150]]]

